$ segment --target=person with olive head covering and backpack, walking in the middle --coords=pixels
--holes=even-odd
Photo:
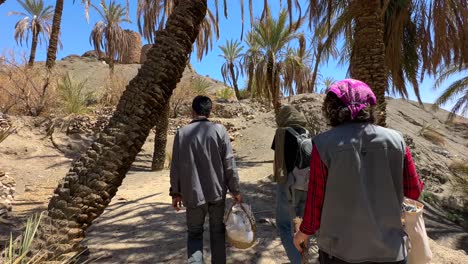
[[[300,145],[304,140],[312,143],[304,128],[307,120],[293,106],[281,107],[276,116],[277,130],[272,144],[274,150],[274,179],[276,185],[276,226],[281,242],[291,264],[301,263],[301,254],[293,244],[293,219],[302,218],[307,196],[309,178],[309,158],[307,168],[298,168]],[[300,145],[299,145],[300,144]]]

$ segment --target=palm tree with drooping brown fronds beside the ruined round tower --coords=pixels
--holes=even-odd
[[[109,6],[101,0],[102,11],[94,5],[91,6],[99,13],[102,20],[94,25],[89,40],[98,54],[104,49],[107,63],[113,72],[115,60],[120,60],[128,49],[128,36],[120,27],[120,23],[131,23],[131,21],[126,18],[126,8],[115,3],[115,0],[111,0]]]

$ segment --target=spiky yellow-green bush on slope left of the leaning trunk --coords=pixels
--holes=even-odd
[[[85,88],[86,80],[75,83],[69,74],[57,82],[57,92],[65,114],[83,114],[87,111],[86,106],[94,100],[94,93],[86,92]]]

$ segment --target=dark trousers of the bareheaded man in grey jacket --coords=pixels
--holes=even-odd
[[[189,263],[203,262],[203,225],[208,214],[210,221],[211,263],[226,263],[225,201],[187,208],[187,253]]]

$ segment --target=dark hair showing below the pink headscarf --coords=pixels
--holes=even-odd
[[[327,93],[322,105],[322,112],[331,126],[339,126],[345,122],[374,123],[374,107],[368,106],[359,111],[356,118],[351,119],[351,111],[334,93]]]

